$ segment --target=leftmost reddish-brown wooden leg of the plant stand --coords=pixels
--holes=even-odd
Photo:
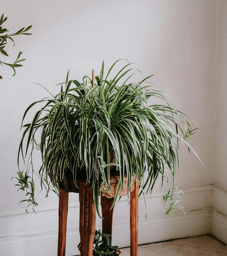
[[[68,214],[68,193],[63,189],[59,191],[59,226],[58,226],[58,256],[65,256],[65,243],[66,243],[66,226]]]

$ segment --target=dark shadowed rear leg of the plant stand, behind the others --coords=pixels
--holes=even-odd
[[[112,222],[113,222],[113,204],[114,198],[107,198],[101,196],[101,207],[102,207],[102,233],[112,235]],[[112,241],[112,237],[109,237]]]

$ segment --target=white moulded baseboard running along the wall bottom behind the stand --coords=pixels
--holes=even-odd
[[[209,233],[227,243],[227,215],[224,212],[227,210],[227,192],[215,185],[182,190],[186,215],[183,212],[176,212],[173,218],[167,218],[164,214],[165,210],[159,201],[161,192],[154,193],[151,201],[148,199],[147,220],[144,202],[140,199],[139,244]],[[130,244],[127,204],[127,198],[120,201],[113,214],[113,244],[120,247]],[[224,209],[223,212],[220,209]],[[0,217],[2,256],[57,255],[57,204],[38,208],[37,214],[24,214],[21,209],[2,211]],[[96,218],[96,229],[99,228],[101,220]],[[79,240],[79,204],[76,202],[71,203],[68,210],[66,256],[79,254]]]

